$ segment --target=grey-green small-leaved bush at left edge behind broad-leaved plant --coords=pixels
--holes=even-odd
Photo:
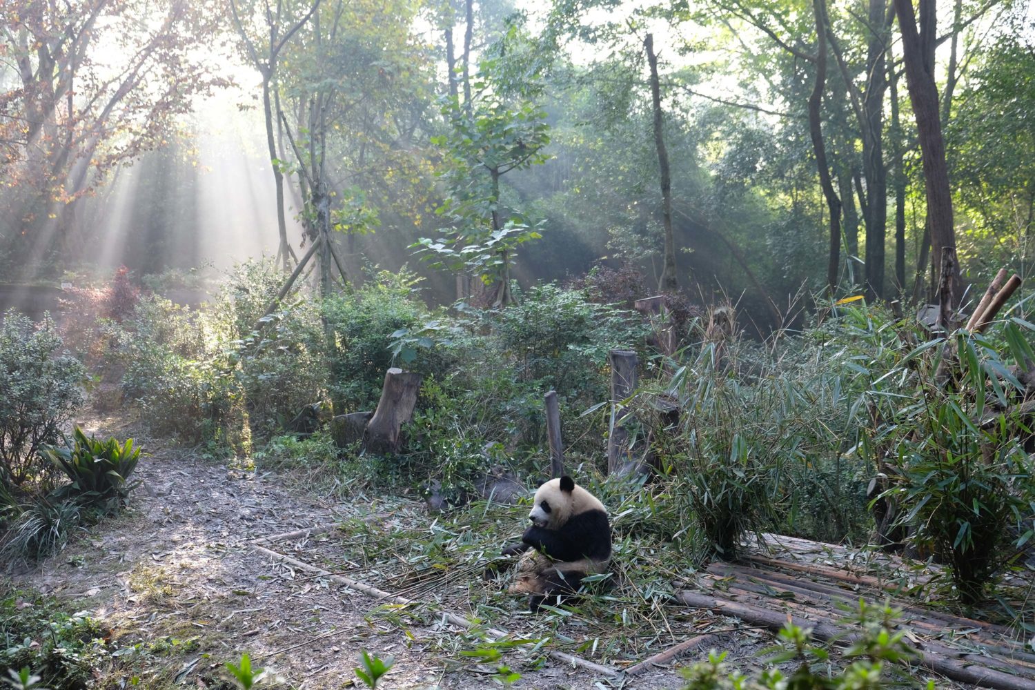
[[[83,402],[83,365],[62,355],[50,318],[34,326],[8,311],[0,323],[0,487],[24,489],[47,475],[37,453],[60,440]]]

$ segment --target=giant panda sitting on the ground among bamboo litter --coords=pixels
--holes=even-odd
[[[596,497],[571,477],[551,479],[535,492],[532,524],[522,543],[504,556],[524,551],[511,594],[529,595],[534,613],[548,597],[573,594],[587,575],[605,572],[611,562],[611,523]]]

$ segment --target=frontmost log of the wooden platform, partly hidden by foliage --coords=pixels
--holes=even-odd
[[[764,625],[773,631],[781,630],[790,621],[800,628],[810,628],[812,636],[823,641],[851,643],[858,637],[858,635],[849,633],[848,630],[828,623],[811,623],[790,613],[777,613],[759,606],[727,601],[692,592],[680,592],[676,595],[676,599],[692,608],[703,608],[723,616],[732,616],[752,625]],[[917,647],[911,649],[916,653],[921,666],[952,681],[970,683],[982,688],[993,688],[993,690],[1035,690],[1035,681],[1001,670],[968,665],[964,661],[942,656],[927,649]],[[962,653],[952,651],[950,653],[963,656]]]

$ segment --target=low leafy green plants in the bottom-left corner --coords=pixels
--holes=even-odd
[[[105,636],[85,611],[68,613],[56,599],[19,590],[0,599],[0,668],[31,668],[53,690],[91,687],[94,668],[108,663]]]

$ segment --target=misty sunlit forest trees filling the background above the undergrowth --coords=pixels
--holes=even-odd
[[[440,303],[625,267],[644,295],[724,295],[772,327],[798,294],[922,301],[943,246],[967,281],[1026,271],[1026,3],[2,12],[17,280],[259,251],[288,267],[327,233],[353,279],[409,263]]]

